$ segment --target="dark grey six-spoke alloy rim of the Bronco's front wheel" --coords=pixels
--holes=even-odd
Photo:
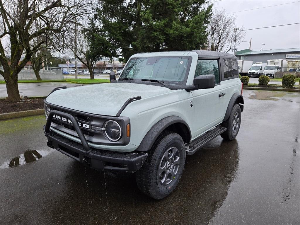
[[[170,147],[161,158],[158,167],[158,179],[163,185],[170,184],[176,179],[179,169],[180,154],[176,147]]]

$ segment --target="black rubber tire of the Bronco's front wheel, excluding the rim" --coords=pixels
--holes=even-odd
[[[171,147],[179,150],[179,168],[175,179],[170,184],[163,185],[158,177],[158,169],[161,159]],[[154,199],[163,199],[175,189],[184,169],[185,147],[182,137],[171,131],[164,132],[155,141],[148,154],[143,167],[136,172],[137,186],[146,195]]]

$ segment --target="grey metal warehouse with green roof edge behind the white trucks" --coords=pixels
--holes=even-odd
[[[300,48],[251,51],[244,49],[235,52],[238,59],[267,63],[268,59],[300,60]]]

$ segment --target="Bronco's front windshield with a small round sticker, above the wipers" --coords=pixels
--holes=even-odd
[[[160,56],[131,58],[123,69],[122,78],[149,83],[144,79],[160,80],[165,85],[186,85],[192,57]]]

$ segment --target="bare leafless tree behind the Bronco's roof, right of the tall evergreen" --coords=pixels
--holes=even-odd
[[[233,32],[236,16],[226,14],[225,10],[213,13],[211,22],[208,26],[208,50],[217,52],[229,52],[235,46],[238,46],[245,38],[244,27],[240,27],[239,31]]]

